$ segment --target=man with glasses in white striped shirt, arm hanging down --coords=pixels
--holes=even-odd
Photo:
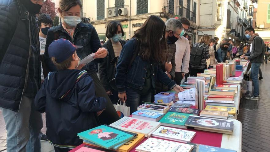
[[[186,73],[189,72],[189,56],[190,56],[190,44],[187,38],[183,37],[187,29],[190,27],[190,22],[187,18],[181,17],[178,18],[183,25],[183,30],[180,34],[180,38],[175,42],[176,44],[176,54],[175,54],[175,78],[174,81],[176,84],[180,85],[181,80]]]

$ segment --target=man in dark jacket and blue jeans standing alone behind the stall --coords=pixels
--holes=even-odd
[[[249,27],[245,30],[245,36],[250,39],[252,42],[251,49],[249,53],[245,53],[241,57],[244,57],[245,60],[249,60],[251,62],[251,79],[254,85],[254,93],[250,97],[246,97],[248,100],[259,100],[260,91],[259,91],[259,80],[258,74],[260,70],[260,65],[264,60],[264,52],[265,52],[265,44],[264,41],[252,27]]]

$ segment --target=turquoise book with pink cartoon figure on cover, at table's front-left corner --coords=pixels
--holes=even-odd
[[[129,141],[134,137],[132,134],[114,129],[107,125],[95,127],[93,129],[83,131],[77,135],[83,140],[88,140],[106,149],[110,149],[125,141]]]

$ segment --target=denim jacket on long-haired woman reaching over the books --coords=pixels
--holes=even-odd
[[[116,86],[119,93],[126,92],[127,86],[139,90],[143,89],[149,61],[144,61],[139,52],[135,57],[131,68],[128,70],[136,45],[137,40],[133,38],[123,46],[120,53],[115,75]],[[176,86],[176,83],[162,71],[159,63],[150,63],[150,65],[152,67],[150,69],[153,70],[151,71],[153,88],[155,88],[155,80],[160,80],[160,82],[167,85],[169,89]]]

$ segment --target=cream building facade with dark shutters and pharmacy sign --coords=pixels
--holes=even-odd
[[[130,39],[150,15],[156,15],[166,22],[169,18],[187,17],[191,22],[188,34],[196,41],[198,0],[83,0],[83,14],[90,18],[100,40],[106,41],[106,26],[118,20],[125,36]]]

